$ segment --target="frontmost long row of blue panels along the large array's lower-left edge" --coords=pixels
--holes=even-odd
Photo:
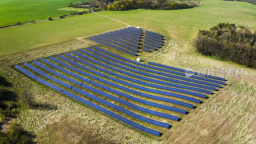
[[[135,123],[135,122],[132,122],[131,120],[128,120],[128,119],[126,119],[126,118],[124,118],[124,117],[122,117],[122,116],[120,116],[120,115],[117,115],[117,114],[115,114],[115,113],[113,113],[113,112],[111,112],[111,111],[109,111],[109,110],[107,110],[107,109],[105,109],[105,108],[102,108],[102,107],[100,107],[100,106],[98,106],[98,105],[96,105],[96,104],[94,104],[94,103],[92,103],[92,102],[90,102],[90,101],[87,101],[87,100],[85,100],[85,99],[83,99],[83,98],[81,98],[81,97],[78,97],[78,96],[76,96],[75,94],[73,94],[73,93],[71,93],[71,92],[68,92],[68,91],[66,91],[66,90],[63,90],[63,89],[61,89],[60,87],[58,87],[58,86],[56,86],[56,85],[53,85],[53,84],[51,84],[51,83],[48,83],[48,82],[44,81],[43,79],[41,79],[41,78],[39,78],[39,77],[33,75],[32,73],[28,72],[28,71],[25,70],[24,68],[21,68],[21,67],[18,66],[18,65],[16,65],[15,68],[19,69],[20,71],[24,72],[25,74],[27,74],[28,76],[34,78],[35,80],[39,81],[40,83],[45,84],[45,85],[47,85],[47,86],[49,86],[49,87],[51,87],[51,88],[53,88],[53,89],[55,89],[55,90],[57,90],[57,91],[59,91],[59,92],[62,92],[62,93],[66,94],[66,95],[68,95],[68,96],[70,96],[70,97],[72,97],[72,98],[74,98],[74,99],[76,99],[76,100],[78,100],[78,101],[80,101],[80,102],[83,102],[84,104],[86,104],[86,105],[88,105],[88,106],[90,106],[90,107],[92,107],[92,108],[95,108],[95,109],[97,109],[97,110],[100,110],[100,111],[102,111],[102,112],[108,114],[109,116],[115,117],[116,119],[121,120],[122,122],[124,122],[124,123],[126,123],[126,124],[129,124],[129,125],[131,125],[131,126],[137,128],[137,129],[140,129],[140,130],[142,130],[142,131],[144,131],[144,132],[148,132],[148,133],[153,134],[153,135],[156,135],[156,136],[159,136],[159,135],[160,135],[160,132],[158,132],[158,131],[156,131],[156,130],[153,130],[153,129],[147,128],[147,127],[145,127],[145,126],[142,126],[142,125],[140,125],[140,124],[137,124],[137,123]],[[83,93],[85,96],[93,96],[93,95],[91,95],[91,94],[89,94],[89,93],[87,93],[87,92],[84,92],[84,91],[82,91],[82,90],[80,90],[80,89],[78,89],[78,88],[75,88],[75,87],[74,87],[74,88],[72,87],[72,90],[75,90],[75,91],[77,91],[77,92]],[[94,98],[96,98],[96,96],[94,96]],[[108,102],[108,104],[109,104],[109,105],[113,105],[113,104],[110,103],[110,102]],[[141,120],[143,120],[143,118],[141,118],[141,116],[138,117],[138,118],[141,119]],[[146,119],[145,121],[152,123],[152,121],[151,121],[150,119]],[[156,121],[154,121],[154,122],[155,122],[155,124],[156,124]],[[167,127],[167,126],[165,126],[166,124],[163,123],[163,122],[159,122],[159,124],[162,124],[162,126]],[[168,124],[167,124],[167,125],[168,125]],[[168,126],[168,127],[169,127],[169,126]]]

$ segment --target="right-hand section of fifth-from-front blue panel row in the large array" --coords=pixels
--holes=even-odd
[[[174,103],[174,104],[177,104],[177,105],[185,106],[185,107],[188,107],[188,108],[193,108],[193,107],[194,107],[194,105],[193,105],[193,104],[190,104],[190,103],[186,103],[186,102],[182,102],[182,101],[179,101],[179,100],[173,100],[173,99],[169,99],[169,98],[164,98],[164,97],[160,97],[160,96],[155,96],[155,95],[151,95],[151,94],[139,92],[139,91],[136,91],[136,90],[133,90],[133,89],[124,87],[124,86],[122,86],[122,85],[120,85],[120,84],[115,84],[115,83],[109,82],[109,81],[107,81],[107,80],[105,80],[105,79],[102,79],[102,78],[100,78],[99,81],[100,81],[100,82],[103,82],[103,83],[105,83],[105,84],[109,84],[109,85],[111,85],[111,86],[114,86],[114,87],[116,87],[116,88],[122,89],[122,90],[124,90],[124,91],[131,92],[131,93],[133,93],[133,94],[137,94],[137,95],[146,97],[146,98],[155,99],[155,100],[161,100],[161,101],[166,101],[166,102]]]

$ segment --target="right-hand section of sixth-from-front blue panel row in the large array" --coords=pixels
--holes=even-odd
[[[122,77],[122,75],[119,75],[119,74],[115,74],[115,76]],[[134,87],[134,88],[137,88],[137,89],[140,89],[140,90],[144,90],[144,91],[147,91],[147,92],[154,92],[154,93],[158,93],[158,94],[173,96],[173,97],[177,97],[177,98],[184,99],[184,100],[194,101],[194,102],[197,102],[197,103],[200,102],[199,99],[195,99],[195,98],[188,97],[188,96],[184,96],[184,95],[177,94],[177,93],[165,92],[165,91],[159,91],[159,90],[156,90],[156,89],[146,88],[146,87],[143,87],[143,86],[139,86],[139,85],[136,85],[136,84],[132,84],[132,83],[125,82],[125,81],[123,81],[123,80],[117,79],[117,78],[112,77],[112,76],[107,76],[107,78],[108,78],[108,79],[111,79],[111,80],[113,80],[113,81],[116,81],[116,82],[118,82],[118,83],[125,84],[125,85],[129,85],[129,86],[131,86],[131,87]],[[185,112],[185,113],[186,113],[186,112]]]

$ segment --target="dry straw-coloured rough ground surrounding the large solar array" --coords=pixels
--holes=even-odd
[[[143,60],[177,68],[244,68],[243,76],[225,76],[228,85],[189,113],[161,140],[153,139],[101,113],[52,92],[8,65],[85,48],[82,40],[0,58],[0,75],[17,91],[30,88],[38,104],[24,106],[17,121],[39,143],[255,143],[256,70],[197,54],[189,42],[169,39],[164,48]]]

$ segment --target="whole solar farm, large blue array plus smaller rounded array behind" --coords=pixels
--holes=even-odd
[[[169,132],[226,85],[225,78],[135,61],[138,52],[163,48],[165,37],[156,32],[128,27],[89,40],[97,45],[20,63],[15,70],[154,137]]]

